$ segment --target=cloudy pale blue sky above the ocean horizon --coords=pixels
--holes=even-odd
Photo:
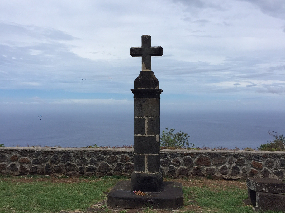
[[[284,109],[284,0],[9,0],[0,29],[2,112],[133,109],[143,34],[161,110]]]

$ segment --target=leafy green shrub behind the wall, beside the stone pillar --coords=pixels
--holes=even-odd
[[[188,136],[187,133],[184,132],[176,132],[173,133],[175,129],[170,129],[168,131],[168,127],[165,128],[166,130],[162,131],[162,135],[160,137],[160,148],[185,148],[189,146]],[[192,147],[195,146],[195,144],[191,144]]]

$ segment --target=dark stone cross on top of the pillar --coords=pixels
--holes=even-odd
[[[162,47],[152,47],[150,35],[142,36],[141,47],[131,47],[131,56],[142,57],[142,71],[151,70],[151,56],[162,56]]]

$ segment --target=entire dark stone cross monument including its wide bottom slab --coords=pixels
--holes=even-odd
[[[142,46],[132,47],[131,56],[142,57],[142,71],[134,81],[134,172],[131,181],[120,181],[109,192],[107,205],[113,208],[172,208],[183,206],[182,184],[162,181],[159,158],[162,90],[151,70],[151,57],[162,56],[162,47],[152,47],[150,35]],[[134,193],[140,191],[141,193]]]

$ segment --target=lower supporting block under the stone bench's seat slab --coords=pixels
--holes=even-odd
[[[255,211],[285,211],[285,194],[257,192]]]

